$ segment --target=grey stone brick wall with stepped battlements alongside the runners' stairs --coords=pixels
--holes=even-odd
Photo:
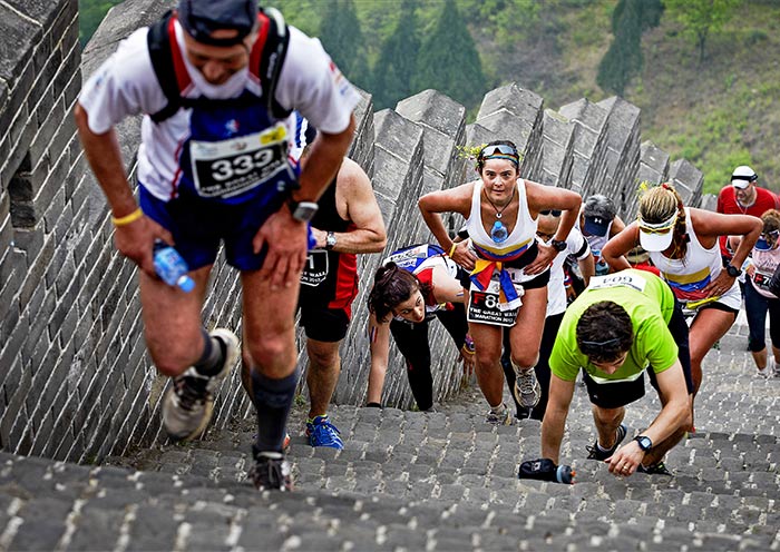
[[[105,198],[75,135],[72,108],[90,75],[134,29],[172,1],[126,0],[85,51],[78,48],[76,0],[0,2],[0,448],[89,462],[163,440],[159,398],[167,379],[146,354],[136,268],[117,255]],[[80,61],[80,65],[79,65]],[[517,83],[485,96],[477,119],[450,98],[426,90],[396,109],[373,112],[363,95],[350,155],[371,176],[388,227],[388,253],[427,241],[417,209],[425,193],[474,178],[464,146],[510,139],[521,175],[584,195],[613,196],[632,218],[640,180],[673,180],[699,205],[702,174],[641,144],[640,112],[620,98],[545,109]],[[117,127],[133,180],[139,118]],[[710,201],[711,198],[703,198]],[[446,217],[454,231],[462,223]],[[381,255],[360,258],[360,295],[342,346],[334,400],[362,404],[369,369],[365,294]],[[241,290],[222,257],[203,310],[207,327],[241,332]],[[437,400],[457,392],[461,366],[439,324],[431,325]],[[300,364],[305,365],[305,353]],[[305,393],[304,390],[301,390]],[[393,347],[383,402],[412,404]],[[250,415],[238,375],[217,393],[215,427]],[[299,428],[291,428],[292,432]]]

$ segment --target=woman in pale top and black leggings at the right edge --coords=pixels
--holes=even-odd
[[[759,375],[780,377],[780,299],[772,293],[772,275],[780,265],[780,211],[769,209],[761,215],[763,229],[753,246],[745,268],[744,310],[748,315],[748,347],[753,355]],[[729,238],[732,250],[739,248],[740,238]],[[767,312],[769,312],[769,338],[772,355],[767,354]]]

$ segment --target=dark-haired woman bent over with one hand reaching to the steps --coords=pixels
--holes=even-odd
[[[428,324],[445,326],[464,362],[474,371],[474,342],[468,335],[461,279],[468,275],[435,245],[404,247],[382,262],[369,293],[371,371],[367,406],[381,406],[390,356],[390,334],[407,362],[407,376],[420,411],[433,406]]]

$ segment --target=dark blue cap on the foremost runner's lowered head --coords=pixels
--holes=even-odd
[[[176,11],[184,30],[211,46],[240,45],[257,22],[257,0],[179,0]],[[237,32],[230,38],[213,38],[220,29]]]

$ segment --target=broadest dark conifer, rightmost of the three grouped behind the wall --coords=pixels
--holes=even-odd
[[[454,0],[447,0],[433,29],[427,32],[417,58],[412,88],[433,88],[467,108],[486,91],[479,53]]]

